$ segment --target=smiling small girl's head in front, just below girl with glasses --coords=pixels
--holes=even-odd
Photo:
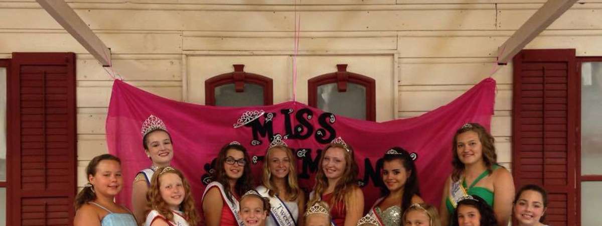
[[[238,215],[245,226],[265,226],[265,218],[270,215],[270,201],[259,195],[255,190],[249,190],[240,198]]]

